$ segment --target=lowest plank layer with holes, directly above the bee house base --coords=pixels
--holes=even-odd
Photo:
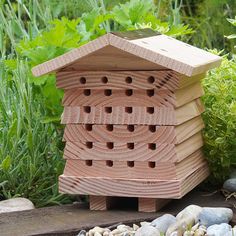
[[[126,162],[114,161],[112,166],[106,161],[66,161],[64,175],[78,177],[107,177],[124,179],[171,180],[180,179],[206,164],[203,153],[197,150],[179,163],[170,162]]]

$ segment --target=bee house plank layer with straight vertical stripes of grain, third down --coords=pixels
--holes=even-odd
[[[196,99],[176,110],[167,107],[64,107],[62,124],[178,125],[199,116],[204,107]]]

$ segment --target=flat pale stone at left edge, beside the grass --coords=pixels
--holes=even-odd
[[[34,204],[27,198],[11,198],[0,201],[0,213],[34,209]]]

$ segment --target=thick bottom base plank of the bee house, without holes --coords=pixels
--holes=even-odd
[[[175,199],[181,198],[206,179],[208,175],[207,165],[200,167],[181,180],[125,180],[61,175],[59,190],[61,193],[68,194]]]

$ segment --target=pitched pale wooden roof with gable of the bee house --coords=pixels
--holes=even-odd
[[[192,76],[220,65],[217,55],[146,29],[107,33],[32,69],[35,76],[65,70],[172,69]]]

